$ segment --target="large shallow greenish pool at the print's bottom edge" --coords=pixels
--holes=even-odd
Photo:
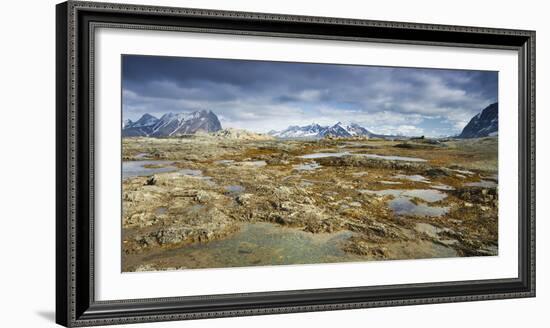
[[[245,223],[224,239],[147,254],[139,263],[161,263],[183,268],[220,268],[256,265],[364,261],[342,244],[350,231],[312,234],[272,223]]]

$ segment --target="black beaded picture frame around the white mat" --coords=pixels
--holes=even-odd
[[[56,25],[56,321],[92,326],[535,296],[535,32],[69,1]],[[93,38],[97,27],[410,45],[519,55],[519,276],[247,294],[94,298]],[[513,141],[509,141],[513,142]]]

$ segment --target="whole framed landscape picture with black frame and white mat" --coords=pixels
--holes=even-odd
[[[535,296],[535,32],[57,5],[57,306]]]

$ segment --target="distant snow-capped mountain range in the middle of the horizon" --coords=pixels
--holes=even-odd
[[[369,130],[357,123],[344,125],[338,122],[332,126],[321,126],[313,123],[306,126],[292,125],[282,131],[270,131],[270,135],[277,138],[323,138],[325,136],[353,137],[374,136]]]

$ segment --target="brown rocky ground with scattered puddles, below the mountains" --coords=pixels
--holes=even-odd
[[[124,165],[139,168],[123,179],[124,271],[498,252],[496,138],[232,136],[123,139]],[[326,258],[254,254],[266,251],[261,238],[228,248],[242,255],[234,262],[208,256],[216,242],[259,223],[300,238],[348,234]]]

